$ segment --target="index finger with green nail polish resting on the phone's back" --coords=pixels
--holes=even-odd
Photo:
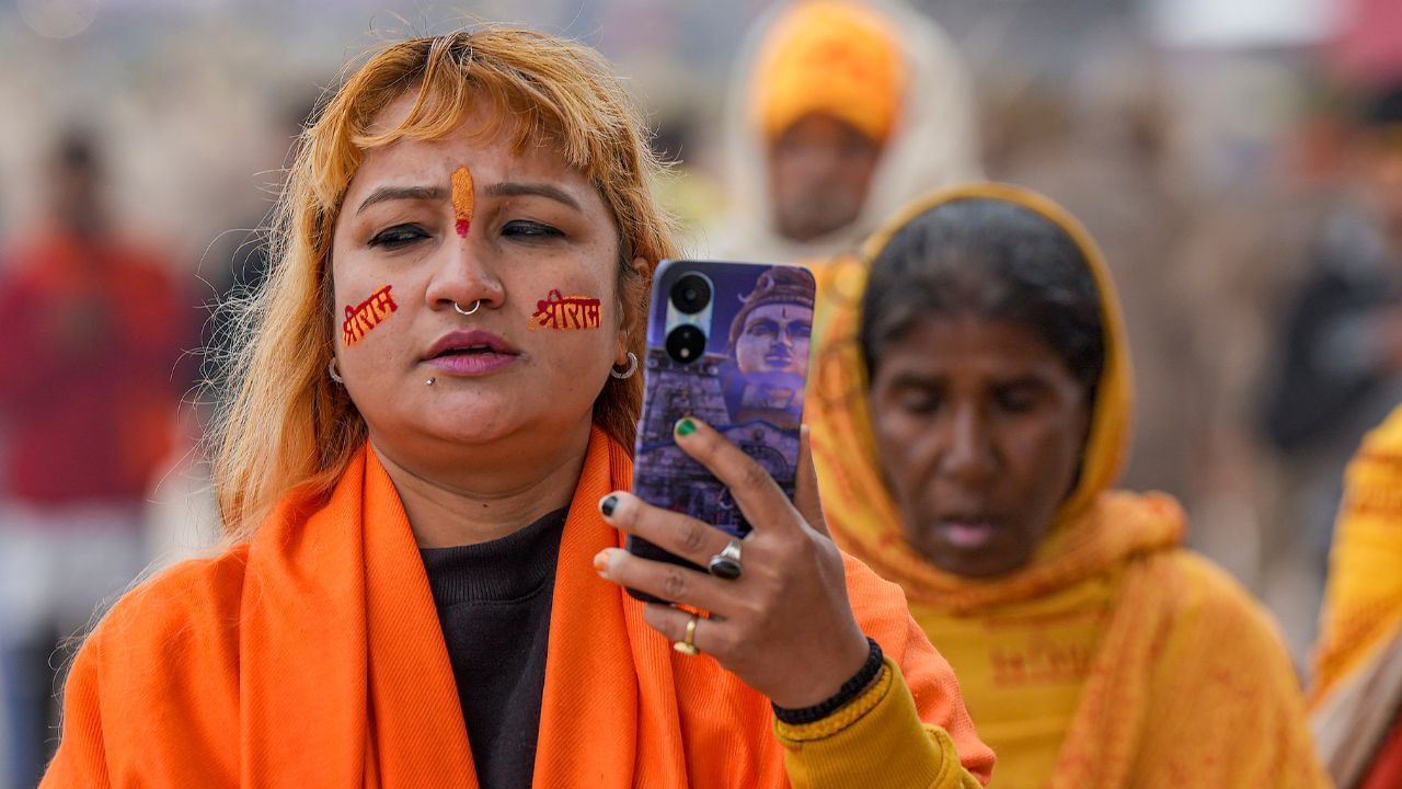
[[[721,480],[756,531],[794,528],[798,517],[770,472],[715,428],[695,417],[677,421],[677,446]]]

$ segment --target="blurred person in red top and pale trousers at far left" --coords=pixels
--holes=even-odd
[[[57,135],[42,223],[0,281],[0,649],[21,786],[46,757],[57,640],[147,560],[143,504],[191,382],[192,302],[115,226],[102,153],[93,132]]]

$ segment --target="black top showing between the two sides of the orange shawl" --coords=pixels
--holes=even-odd
[[[566,514],[491,542],[421,550],[482,789],[531,785]]]

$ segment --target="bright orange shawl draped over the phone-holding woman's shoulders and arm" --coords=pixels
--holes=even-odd
[[[672,650],[590,559],[632,477],[594,430],[559,548],[534,785],[785,786],[767,699]],[[857,562],[862,629],[987,781],[949,665]],[[475,786],[453,671],[394,484],[362,451],[329,500],[290,494],[248,545],[137,588],[79,654],[45,786]]]

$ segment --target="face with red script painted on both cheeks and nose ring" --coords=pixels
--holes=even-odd
[[[411,105],[401,97],[377,124],[397,125]],[[468,112],[440,140],[366,152],[336,219],[336,359],[380,446],[578,435],[610,366],[625,361],[611,213],[554,147],[513,153],[509,125],[474,138],[488,112]],[[458,174],[454,211],[463,167],[472,185]],[[474,211],[461,233],[465,192]],[[397,309],[381,303],[348,345],[346,307],[386,285]],[[552,291],[599,299],[597,327],[531,327]],[[454,303],[478,307],[464,316]]]

